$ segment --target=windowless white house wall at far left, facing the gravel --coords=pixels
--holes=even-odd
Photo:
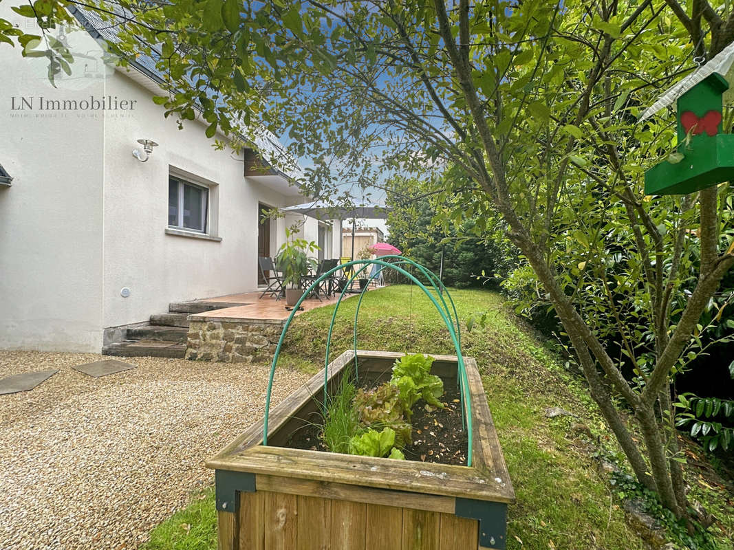
[[[32,32],[7,2],[0,17]],[[54,89],[47,65],[0,45],[0,164],[14,178],[0,186],[0,348],[99,351],[103,119],[39,103],[103,95],[104,83]],[[21,97],[32,109],[13,109]]]

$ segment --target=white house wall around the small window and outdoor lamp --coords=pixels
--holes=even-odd
[[[105,128],[103,323],[120,326],[167,311],[169,302],[207,298],[257,288],[258,202],[283,207],[288,196],[243,175],[244,164],[230,150],[215,150],[205,125],[164,119],[153,93],[115,73],[108,95],[138,98],[133,117],[109,120]],[[137,139],[159,143],[147,162],[134,158]],[[210,224],[217,218],[221,241],[169,235],[168,177],[210,187]],[[296,194],[291,188],[291,194]],[[218,210],[218,216],[217,216]],[[271,225],[271,252],[284,238]],[[128,287],[128,298],[120,290]]]

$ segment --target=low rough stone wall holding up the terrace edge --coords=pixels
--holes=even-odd
[[[282,320],[189,320],[186,359],[228,363],[269,362],[284,324]]]

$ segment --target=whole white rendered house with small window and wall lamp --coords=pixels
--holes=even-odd
[[[7,2],[0,17],[28,24]],[[215,150],[204,123],[179,130],[150,99],[150,61],[108,67],[87,30],[62,36],[81,55],[56,88],[46,59],[0,44],[0,348],[99,352],[106,329],[171,301],[256,290],[258,255],[293,221],[258,224],[261,210],[305,199],[254,169],[254,150]],[[341,222],[302,232],[338,257]]]

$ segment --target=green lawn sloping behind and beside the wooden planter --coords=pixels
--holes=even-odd
[[[508,548],[642,548],[625,523],[616,497],[596,473],[594,459],[572,429],[573,423],[581,422],[614,448],[580,382],[560,367],[542,342],[520,329],[502,307],[501,296],[484,290],[452,290],[451,295],[462,328],[474,312],[490,312],[484,329],[476,326],[471,333],[464,332],[462,351],[479,362],[515,485],[517,504],[509,508]],[[339,309],[332,357],[352,346],[356,304],[357,298],[350,298]],[[323,307],[299,315],[289,331],[279,368],[316,372],[323,366],[332,312],[333,307]],[[418,287],[393,286],[368,293],[360,309],[357,344],[361,349],[454,353],[443,320]],[[551,406],[565,408],[577,417],[547,419],[543,413]],[[720,501],[717,507],[725,509],[723,496]],[[203,510],[206,505],[213,508],[211,496],[195,500],[183,515],[162,524],[147,548],[214,549],[214,515]],[[185,526],[197,522],[194,539],[186,535]],[[733,522],[731,518],[727,521],[729,529]],[[195,532],[193,527],[191,532]],[[201,532],[208,532],[208,538]],[[177,537],[181,541],[173,543]],[[197,542],[187,546],[189,538]]]

